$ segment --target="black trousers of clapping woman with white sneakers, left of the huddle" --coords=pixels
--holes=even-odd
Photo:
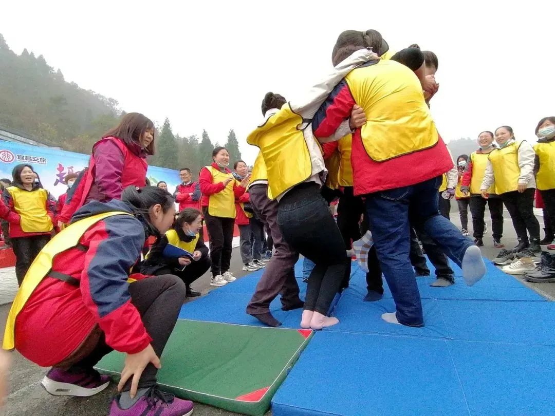
[[[221,275],[229,270],[233,247],[234,218],[214,217],[204,207],[204,221],[210,236],[210,260],[212,276]]]

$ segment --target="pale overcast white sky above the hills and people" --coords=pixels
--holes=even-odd
[[[534,140],[538,120],[555,115],[552,1],[3,3],[0,33],[14,52],[43,54],[65,80],[125,111],[158,124],[167,116],[174,133],[200,138],[206,129],[224,144],[233,128],[248,163],[256,149],[245,138],[264,94],[294,99],[310,88],[345,29],[437,53],[432,113],[447,141],[503,124]]]

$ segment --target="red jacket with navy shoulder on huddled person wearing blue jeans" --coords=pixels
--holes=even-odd
[[[333,135],[342,121],[349,118],[355,104],[349,86],[342,80],[317,111],[312,121],[314,135],[317,138]],[[364,149],[360,129],[352,135],[351,164],[355,195],[416,185],[443,175],[453,167],[451,155],[441,137],[429,149],[376,162]]]

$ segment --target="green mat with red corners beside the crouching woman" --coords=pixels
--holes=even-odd
[[[179,319],[162,354],[160,387],[231,412],[263,415],[312,337],[310,329],[265,328]],[[124,354],[95,367],[119,376]]]

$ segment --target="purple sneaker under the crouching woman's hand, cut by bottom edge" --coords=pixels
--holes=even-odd
[[[119,407],[119,395],[110,405],[108,416],[190,416],[193,414],[193,402],[175,398],[173,394],[164,393],[152,387],[129,409]]]

